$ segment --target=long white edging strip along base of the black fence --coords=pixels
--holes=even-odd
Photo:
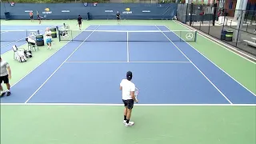
[[[176,22],[176,21],[174,21],[174,22]],[[189,26],[184,26],[184,25],[182,24],[182,22],[176,22],[176,23],[178,23],[179,25],[181,25],[181,26],[183,26],[183,27],[185,27],[185,28],[188,28],[188,29],[190,29],[190,30],[196,30],[196,29],[191,28],[191,27],[189,27]],[[212,38],[212,37],[210,37],[210,36],[208,36],[208,35],[206,35],[206,34],[203,34],[200,30],[198,30],[198,33],[199,33],[202,37],[204,37],[204,38],[210,40],[210,42],[214,42],[212,39],[215,39],[215,41],[218,41],[219,43],[222,43],[222,45],[221,45],[221,44],[219,44],[218,42],[214,42],[214,43],[217,44],[218,46],[222,46],[222,47],[225,48],[226,50],[232,49],[232,50],[230,50],[232,53],[237,54],[237,53],[234,52],[234,51],[236,51],[236,52],[239,53],[239,54],[237,54],[239,57],[242,57],[242,58],[246,59],[247,61],[256,64],[256,62],[253,62],[253,61],[251,61],[250,59],[243,57],[242,55],[246,55],[246,57],[252,58],[252,59],[254,59],[255,61],[256,61],[256,58],[253,58],[253,57],[251,57],[251,56],[248,55],[248,54],[244,54],[244,53],[242,53],[241,51],[236,50],[236,49],[234,49],[233,47],[226,45],[224,42],[220,42],[217,38]],[[223,46],[223,45],[224,45],[224,46]],[[226,48],[225,46],[226,46],[226,47],[229,47],[230,49]],[[233,51],[233,50],[234,50],[234,51]],[[242,54],[242,55],[240,55],[240,54]]]

